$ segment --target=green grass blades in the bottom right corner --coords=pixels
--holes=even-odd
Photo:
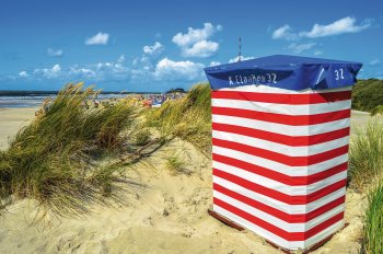
[[[364,217],[362,253],[383,253],[383,182],[369,195]]]

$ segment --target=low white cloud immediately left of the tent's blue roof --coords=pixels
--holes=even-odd
[[[204,65],[198,62],[173,61],[171,59],[161,59],[154,70],[154,78],[158,80],[189,80],[195,81],[204,78]]]

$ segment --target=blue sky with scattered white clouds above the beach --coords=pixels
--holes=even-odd
[[[0,90],[159,91],[206,81],[202,68],[276,54],[363,62],[383,79],[380,1],[0,2]]]

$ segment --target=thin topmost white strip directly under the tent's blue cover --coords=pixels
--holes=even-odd
[[[312,89],[304,89],[301,91],[293,91],[293,90],[287,90],[287,89],[280,89],[280,88],[274,88],[269,85],[241,85],[235,88],[225,88],[220,89],[219,91],[236,91],[236,92],[258,92],[258,93],[286,93],[286,94],[311,94],[311,93],[332,93],[332,92],[340,92],[340,91],[350,91],[352,86],[344,86],[344,88],[337,88],[337,89],[323,89],[323,90],[312,90]]]

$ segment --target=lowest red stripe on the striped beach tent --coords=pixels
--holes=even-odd
[[[274,226],[265,220],[262,220],[246,211],[243,211],[232,205],[229,205],[218,198],[213,198],[213,203],[216,206],[219,206],[287,241],[305,241],[306,239],[310,239],[311,236],[317,234],[318,232],[322,232],[326,228],[330,227],[332,224],[335,224],[336,222],[340,221],[344,218],[344,211],[339,212],[338,215],[329,218],[328,220],[315,226],[314,228],[307,230],[306,232],[288,232],[286,230],[282,230],[278,228],[277,226]]]

